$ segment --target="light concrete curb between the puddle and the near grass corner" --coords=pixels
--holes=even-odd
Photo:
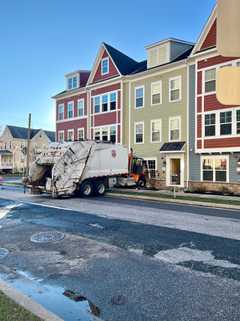
[[[64,321],[52,312],[49,312],[43,308],[40,304],[36,303],[25,294],[18,292],[3,281],[0,281],[0,290],[15,303],[22,306],[24,309],[31,312],[43,321]]]

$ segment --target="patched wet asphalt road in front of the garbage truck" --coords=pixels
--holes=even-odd
[[[240,315],[240,211],[0,190],[0,277],[67,321],[232,321]],[[57,231],[57,242],[33,243]]]

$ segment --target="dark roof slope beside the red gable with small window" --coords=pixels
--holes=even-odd
[[[103,45],[107,49],[109,55],[113,59],[115,65],[117,66],[118,70],[122,75],[127,75],[131,73],[139,64],[136,60],[130,58],[129,56],[113,48],[107,43],[104,42]]]

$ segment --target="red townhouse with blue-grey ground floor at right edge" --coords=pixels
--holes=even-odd
[[[240,192],[240,106],[216,97],[217,70],[240,59],[218,54],[216,19],[215,8],[189,59],[189,185]]]

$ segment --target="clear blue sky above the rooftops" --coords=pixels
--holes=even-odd
[[[51,97],[104,41],[135,60],[169,37],[195,42],[215,0],[0,0],[0,129],[55,130]]]

